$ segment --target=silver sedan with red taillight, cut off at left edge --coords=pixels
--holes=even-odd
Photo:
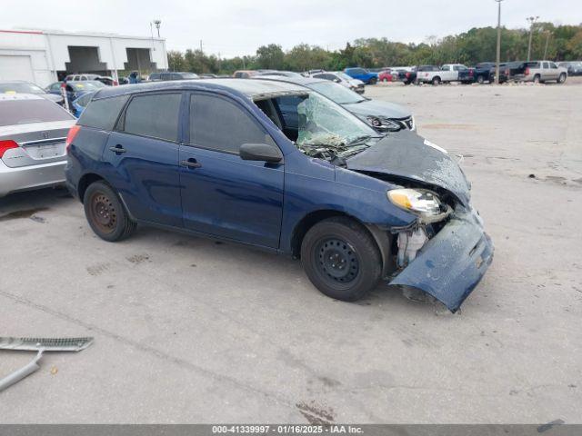
[[[65,182],[75,117],[39,94],[0,94],[0,197]]]

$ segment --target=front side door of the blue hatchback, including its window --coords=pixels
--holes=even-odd
[[[185,227],[277,248],[284,165],[238,155],[242,144],[275,144],[273,139],[233,99],[205,93],[189,98],[189,139],[179,157]]]

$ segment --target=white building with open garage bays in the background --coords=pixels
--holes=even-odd
[[[0,80],[45,86],[66,74],[167,70],[166,40],[54,30],[0,30]]]

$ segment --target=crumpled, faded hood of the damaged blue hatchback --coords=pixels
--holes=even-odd
[[[467,178],[454,156],[439,148],[422,136],[403,130],[348,158],[346,166],[349,170],[390,174],[438,186],[467,207],[470,200]]]

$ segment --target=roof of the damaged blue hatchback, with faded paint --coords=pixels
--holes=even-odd
[[[199,79],[199,80],[173,80],[170,82],[149,82],[145,84],[131,84],[129,86],[108,86],[95,95],[95,99],[113,97],[124,94],[136,94],[153,91],[169,90],[230,90],[244,94],[251,99],[268,97],[275,94],[305,93],[306,88],[297,84],[283,81],[261,79]]]

